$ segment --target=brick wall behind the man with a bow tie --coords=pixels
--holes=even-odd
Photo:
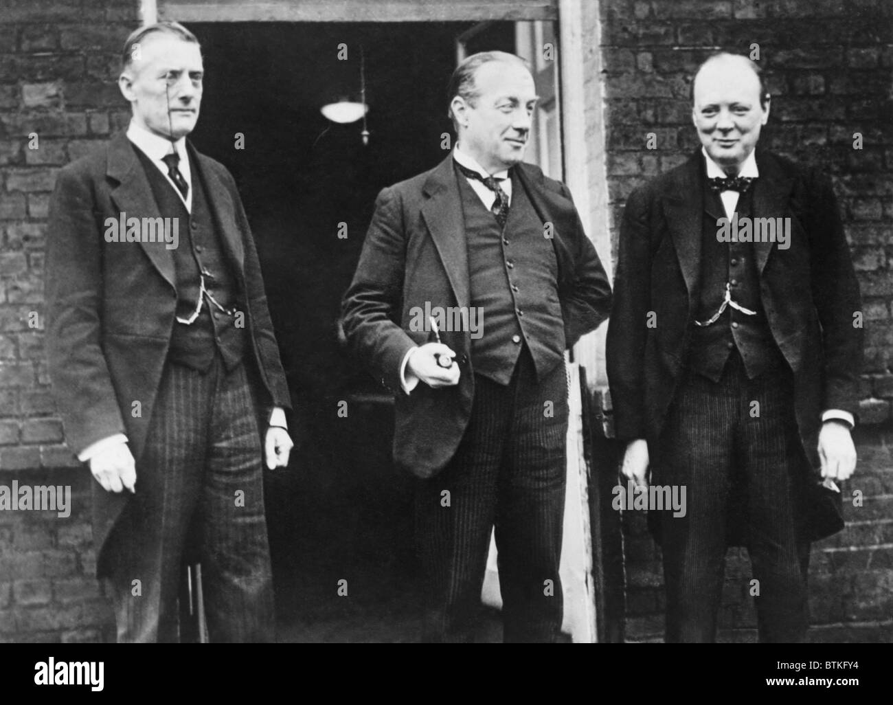
[[[816,641],[893,639],[893,6],[885,0],[609,0],[601,4],[607,167],[616,253],[630,191],[697,147],[689,78],[722,48],[759,62],[772,93],[761,145],[830,172],[862,287],[866,367],[847,528],[814,545]],[[647,149],[647,133],[657,148]],[[864,139],[855,150],[854,133]],[[663,575],[644,516],[624,516],[627,638],[663,634]],[[730,550],[721,638],[755,640],[746,550]]]

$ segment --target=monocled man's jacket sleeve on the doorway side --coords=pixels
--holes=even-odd
[[[230,184],[230,193],[236,206],[236,218],[238,231],[243,235],[245,243],[245,286],[248,298],[249,320],[255,333],[257,354],[260,357],[261,374],[271,394],[271,406],[291,409],[291,396],[288,393],[285,371],[282,369],[279,345],[276,335],[273,333],[273,324],[270,318],[270,309],[267,306],[267,294],[263,289],[263,276],[261,264],[257,258],[255,238],[251,234],[251,226],[242,206],[242,199],[238,196],[236,181],[230,172],[224,170],[227,182]],[[270,409],[266,409],[269,417]]]

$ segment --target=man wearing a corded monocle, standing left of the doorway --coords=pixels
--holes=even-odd
[[[262,462],[288,462],[288,389],[236,184],[186,140],[202,76],[188,29],[131,34],[129,129],[65,167],[50,205],[49,372],[96,478],[120,642],[177,641],[187,544],[211,641],[273,638]]]

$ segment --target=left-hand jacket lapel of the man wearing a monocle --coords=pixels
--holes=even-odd
[[[128,218],[160,218],[162,214],[155,203],[146,172],[133,149],[123,132],[114,137],[109,145],[106,174],[118,182],[112,189],[112,200]],[[166,248],[163,242],[143,242],[140,239],[139,244],[158,273],[176,289],[172,250]]]

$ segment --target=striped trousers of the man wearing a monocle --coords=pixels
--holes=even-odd
[[[136,494],[110,541],[119,642],[179,640],[187,550],[202,564],[209,640],[273,641],[262,447],[244,364],[164,366]]]

